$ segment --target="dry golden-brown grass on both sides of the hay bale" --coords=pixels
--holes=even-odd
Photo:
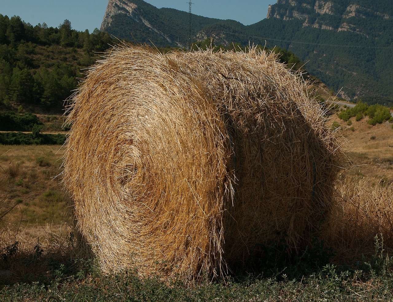
[[[329,217],[330,228],[323,233],[323,239],[338,251],[338,261],[372,254],[375,236],[380,233],[385,250],[390,251],[393,249],[391,124],[370,126],[364,119],[347,125],[336,114],[332,114],[331,122],[341,125],[339,131],[347,140],[345,148],[351,164],[338,184],[336,208]],[[0,145],[0,213],[15,205],[2,220],[2,249],[18,241],[20,250],[52,249],[51,257],[53,249],[63,256],[75,252],[70,242],[73,236],[70,203],[58,176],[63,152],[61,146]]]

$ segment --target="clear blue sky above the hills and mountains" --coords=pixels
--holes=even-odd
[[[132,1],[132,0],[131,0]],[[158,8],[187,11],[189,0],[147,0]],[[192,0],[191,12],[204,17],[233,19],[249,25],[266,18],[269,4],[276,0]],[[65,19],[73,29],[92,32],[101,26],[108,0],[0,0],[0,14],[19,16],[33,26],[46,23],[57,27]]]

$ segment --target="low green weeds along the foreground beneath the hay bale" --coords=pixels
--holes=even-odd
[[[69,240],[72,243],[71,235]],[[393,300],[393,259],[386,254],[382,237],[376,237],[375,252],[371,257],[364,257],[353,265],[325,261],[326,252],[320,244],[316,239],[313,250],[299,253],[299,261],[283,263],[282,260],[288,258],[288,251],[284,251],[286,255],[280,255],[283,251],[272,251],[267,262],[270,262],[273,272],[266,269],[268,275],[243,273],[225,280],[202,281],[190,286],[176,278],[167,282],[155,276],[141,280],[136,270],[103,274],[97,269],[94,259],[77,261],[59,257],[55,260],[47,256],[48,251],[37,241],[22,260],[48,269],[41,274],[32,271],[13,283],[2,280],[2,301],[26,300],[26,296],[32,301],[59,300],[61,297],[62,301],[70,302],[76,299],[189,302]],[[18,246],[19,243],[15,242],[2,251],[3,262],[0,265],[7,267],[17,256],[20,257]],[[312,269],[307,271],[307,268]],[[302,273],[292,278],[288,272],[295,271]]]

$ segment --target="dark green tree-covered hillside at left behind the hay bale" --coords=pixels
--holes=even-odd
[[[0,108],[62,113],[64,100],[113,43],[110,35],[76,31],[64,20],[58,28],[32,26],[0,15]]]

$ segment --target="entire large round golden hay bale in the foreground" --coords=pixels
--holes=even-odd
[[[64,184],[104,271],[225,275],[332,206],[342,151],[272,54],[119,46],[72,102]]]

